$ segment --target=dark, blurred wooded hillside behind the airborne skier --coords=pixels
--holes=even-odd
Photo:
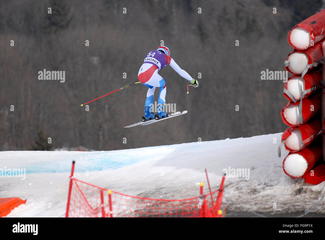
[[[288,31],[323,7],[321,0],[2,0],[0,150],[31,149],[40,131],[53,147],[94,150],[281,132],[283,83],[261,80],[261,71],[284,70]],[[166,102],[186,115],[123,128],[143,115],[141,84],[89,103],[89,112],[80,107],[137,82],[144,57],[161,40],[182,69],[195,79],[202,74],[200,87],[186,94],[187,80],[169,66],[159,71]],[[38,80],[43,69],[65,71],[65,83]]]

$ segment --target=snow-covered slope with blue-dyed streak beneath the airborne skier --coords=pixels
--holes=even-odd
[[[314,186],[285,175],[282,160],[288,152],[282,149],[278,158],[280,139],[277,133],[117,151],[0,152],[0,168],[26,168],[27,173],[25,180],[0,178],[0,197],[27,198],[8,217],[63,217],[75,160],[80,180],[120,193],[164,199],[198,196],[200,181],[208,193],[204,168],[212,191],[218,188],[224,168],[246,168],[249,179],[225,180],[227,210],[246,211],[240,205],[271,214],[309,209],[325,192],[325,182]],[[325,213],[324,206],[325,200],[313,212]]]

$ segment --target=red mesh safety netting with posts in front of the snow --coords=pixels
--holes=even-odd
[[[211,194],[168,200],[130,196],[72,177],[66,217],[221,217],[224,179]]]

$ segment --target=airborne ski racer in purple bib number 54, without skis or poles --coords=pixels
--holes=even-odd
[[[158,74],[158,71],[166,65],[170,65],[179,75],[187,79],[193,87],[199,87],[199,82],[182,70],[170,57],[168,47],[161,46],[157,50],[149,52],[138,73],[139,81],[143,85],[149,87],[145,102],[144,118],[142,118],[142,121],[155,118],[155,114],[152,113],[151,109],[153,105],[153,94],[156,87],[159,87],[156,119],[158,117],[162,118],[167,116],[164,110],[166,102],[166,83],[162,76]]]

